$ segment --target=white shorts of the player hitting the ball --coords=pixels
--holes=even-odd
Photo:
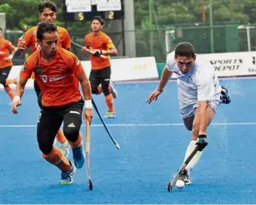
[[[219,100],[208,101],[208,105],[210,105],[210,107],[214,113],[217,112],[219,103],[220,103]],[[180,109],[180,115],[182,116],[182,118],[192,117],[194,115],[195,109],[198,108],[198,106],[199,106],[199,102],[197,102],[195,104],[188,105],[188,106]]]

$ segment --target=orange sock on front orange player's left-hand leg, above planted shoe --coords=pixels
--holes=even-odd
[[[63,156],[61,150],[55,146],[53,146],[52,152],[50,152],[49,154],[42,155],[44,159],[46,159],[50,164],[53,164],[56,167],[58,167],[61,171],[68,171],[71,168],[68,159],[66,159]]]

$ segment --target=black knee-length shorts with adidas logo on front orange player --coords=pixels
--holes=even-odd
[[[63,123],[65,137],[75,142],[82,124],[84,100],[63,106],[42,106],[38,119],[38,144],[43,154],[53,150],[53,141]]]

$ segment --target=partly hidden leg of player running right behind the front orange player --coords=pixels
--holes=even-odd
[[[42,93],[41,90],[37,84],[36,81],[34,81],[34,90],[38,96],[38,106],[42,109]],[[65,135],[63,134],[62,129],[58,129],[58,133],[56,134],[56,138],[58,139],[58,142],[60,143],[60,148],[65,157],[68,157],[68,149],[69,149],[69,144],[68,140],[65,138]],[[54,143],[55,144],[55,143]]]

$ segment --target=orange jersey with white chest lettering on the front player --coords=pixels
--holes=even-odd
[[[44,106],[67,105],[81,99],[78,79],[83,66],[72,52],[61,47],[50,62],[41,59],[41,51],[35,51],[28,57],[20,77],[29,79],[35,73],[35,80],[43,94]]]

